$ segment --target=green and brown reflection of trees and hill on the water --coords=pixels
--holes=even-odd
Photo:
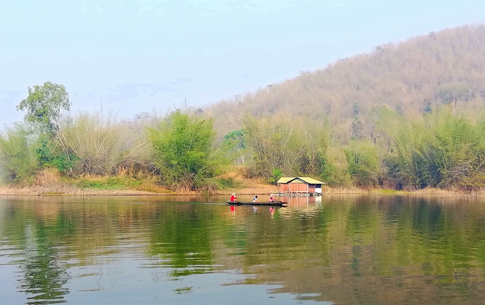
[[[57,207],[42,215],[29,205],[12,206],[0,214],[0,229],[22,250],[19,287],[30,304],[65,302],[69,277],[62,261],[94,264],[93,257],[116,259],[133,245],[150,261],[143,267],[168,269],[170,280],[236,271],[247,277],[234,285],[278,284],[274,292],[342,304],[485,298],[481,203],[390,196],[297,200],[274,214],[183,202]]]

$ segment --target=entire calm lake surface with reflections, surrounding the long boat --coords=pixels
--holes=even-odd
[[[0,197],[0,304],[485,300],[485,201],[225,199]]]

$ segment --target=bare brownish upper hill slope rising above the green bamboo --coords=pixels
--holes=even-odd
[[[220,135],[242,127],[242,116],[327,118],[350,139],[357,115],[376,105],[412,116],[442,104],[471,109],[485,99],[485,25],[430,32],[345,58],[254,93],[209,105]],[[365,123],[363,122],[365,125]]]

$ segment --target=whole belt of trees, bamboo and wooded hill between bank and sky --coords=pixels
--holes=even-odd
[[[55,168],[95,189],[149,189],[143,180],[155,178],[175,192],[243,187],[226,172],[273,184],[307,176],[334,187],[479,191],[484,36],[483,25],[424,35],[203,112],[123,122],[102,112],[69,115],[64,86],[46,82],[17,106],[24,124],[0,134],[0,174],[32,183]]]

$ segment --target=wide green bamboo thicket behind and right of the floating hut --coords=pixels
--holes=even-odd
[[[441,107],[409,118],[387,105],[371,112],[356,117],[364,123],[346,139],[324,123],[248,117],[250,168],[255,175],[318,177],[336,187],[477,191],[484,186],[485,117],[479,113],[473,120]]]

